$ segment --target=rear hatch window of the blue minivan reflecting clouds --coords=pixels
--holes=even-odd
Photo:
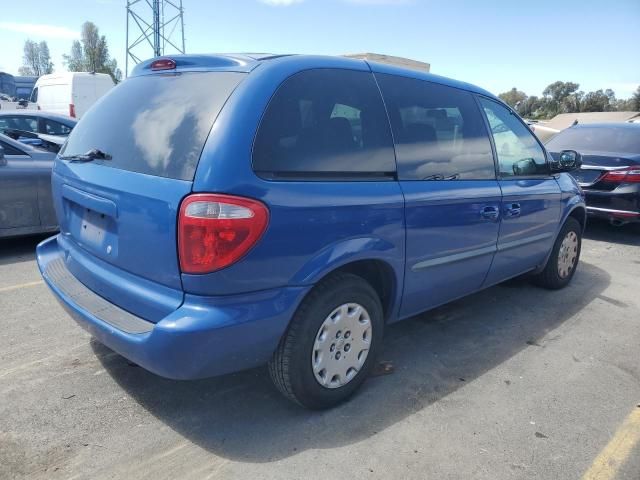
[[[193,180],[218,113],[246,74],[179,73],[133,77],[111,89],[78,122],[60,155],[98,149],[105,166]]]

